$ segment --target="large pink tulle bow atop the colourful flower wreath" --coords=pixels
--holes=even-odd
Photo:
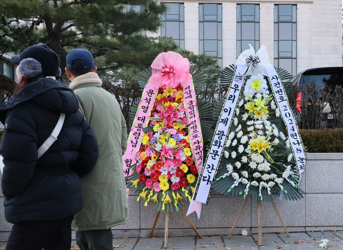
[[[189,76],[189,61],[180,54],[168,51],[158,54],[151,64],[150,81],[157,87],[175,88]]]

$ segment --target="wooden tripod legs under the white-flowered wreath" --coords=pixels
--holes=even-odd
[[[229,232],[229,235],[227,236],[228,239],[231,238],[233,232],[234,232],[234,229],[238,223],[238,220],[239,220],[239,217],[241,216],[242,212],[243,212],[243,209],[248,201],[248,198],[250,197],[250,194],[247,194],[247,196],[245,197],[244,201],[243,201],[243,204],[241,205],[239,211],[238,211],[238,214],[237,214],[237,217],[234,221],[234,224]],[[275,209],[275,212],[277,214],[277,216],[279,217],[279,220],[283,226],[283,228],[285,229],[285,232],[287,234],[287,237],[291,237],[291,235],[289,235],[289,232],[287,230],[287,227],[279,213],[279,210],[277,209],[274,201],[272,200],[272,204],[273,204],[273,207]],[[258,245],[259,246],[262,246],[262,204],[261,204],[261,201],[260,200],[257,200],[257,231],[258,231]]]

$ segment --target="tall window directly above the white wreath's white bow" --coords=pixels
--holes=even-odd
[[[249,45],[260,48],[260,5],[237,4],[237,57]]]

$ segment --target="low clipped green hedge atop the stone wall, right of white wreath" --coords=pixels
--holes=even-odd
[[[300,129],[308,153],[343,152],[343,128]]]

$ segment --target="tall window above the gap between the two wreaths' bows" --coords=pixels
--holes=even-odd
[[[222,4],[199,3],[199,53],[216,58],[222,67]]]

